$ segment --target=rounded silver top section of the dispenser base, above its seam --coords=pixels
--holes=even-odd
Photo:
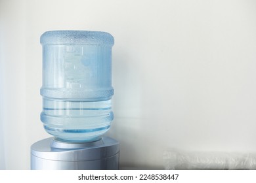
[[[117,153],[119,153],[119,142],[110,137],[81,143],[60,142],[50,137],[31,146],[33,156],[53,161],[92,161],[109,158]]]

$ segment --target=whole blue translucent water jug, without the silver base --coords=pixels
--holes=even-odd
[[[97,31],[48,31],[40,42],[45,130],[64,141],[100,139],[113,120],[114,38]]]

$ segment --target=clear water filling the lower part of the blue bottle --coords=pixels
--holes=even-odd
[[[45,130],[65,141],[96,141],[108,131],[112,120],[111,100],[43,100],[41,121]]]

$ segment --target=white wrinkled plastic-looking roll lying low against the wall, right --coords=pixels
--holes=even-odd
[[[165,151],[165,169],[256,169],[255,153]]]

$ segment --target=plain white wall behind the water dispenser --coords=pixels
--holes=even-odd
[[[0,20],[6,169],[29,169],[30,145],[49,137],[39,37],[54,29],[115,37],[109,135],[121,167],[162,169],[171,148],[256,150],[255,1],[11,0]]]

